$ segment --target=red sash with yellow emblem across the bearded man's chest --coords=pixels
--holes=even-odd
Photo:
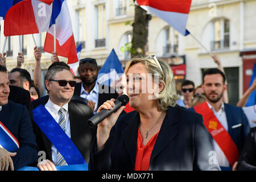
[[[213,111],[210,110],[207,102],[203,102],[202,104],[199,104],[193,108],[197,113],[203,115],[204,126],[224,152],[230,166],[233,166],[233,164],[238,160],[240,153],[236,143],[234,143],[228,131],[224,129],[221,122],[218,121],[217,117],[214,115]]]

